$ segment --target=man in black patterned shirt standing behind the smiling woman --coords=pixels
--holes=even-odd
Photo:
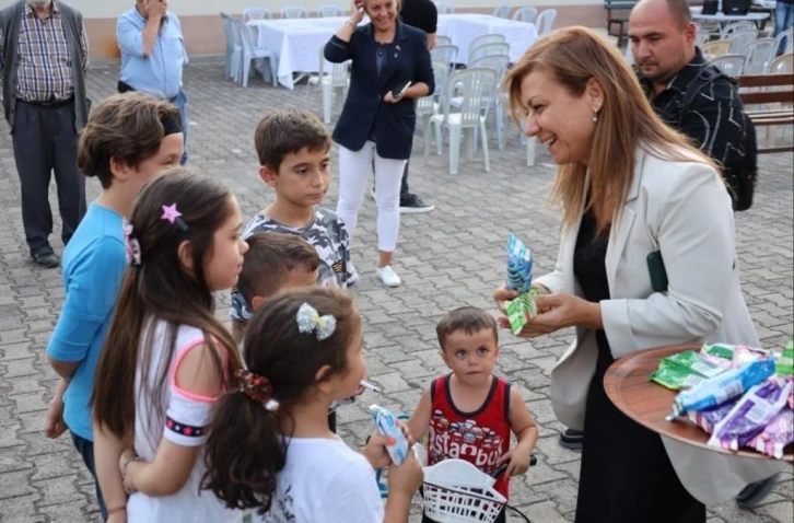
[[[696,31],[686,0],[642,0],[629,18],[634,63],[656,114],[722,165],[734,207],[745,210],[757,167],[755,127],[734,82],[694,46]]]

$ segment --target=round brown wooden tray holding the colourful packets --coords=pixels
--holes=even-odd
[[[705,444],[709,434],[699,427],[686,420],[667,421],[665,419],[670,414],[676,392],[650,381],[651,373],[658,368],[658,361],[662,358],[686,349],[698,350],[699,348],[699,346],[662,347],[641,350],[620,358],[611,364],[604,376],[604,388],[606,388],[607,396],[629,418],[659,434],[713,452],[771,460],[750,449],[734,452],[709,446]],[[786,446],[783,456],[783,460],[790,463],[794,462],[793,446]]]

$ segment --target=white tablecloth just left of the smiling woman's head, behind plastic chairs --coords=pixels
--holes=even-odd
[[[527,24],[515,20],[504,20],[490,14],[440,14],[439,35],[452,38],[452,44],[458,47],[457,61],[467,63],[469,45],[478,36],[489,34],[504,35],[510,44],[510,61],[516,62],[524,53],[535,44],[538,32],[535,24]]]

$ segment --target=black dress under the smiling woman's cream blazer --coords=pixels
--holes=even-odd
[[[605,258],[608,232],[595,236],[585,213],[573,271],[591,302],[609,300]],[[596,332],[598,360],[584,418],[584,446],[576,523],[703,523],[705,507],[684,488],[662,439],[632,421],[609,400],[604,375],[615,361],[604,330]],[[715,479],[719,480],[719,479]]]

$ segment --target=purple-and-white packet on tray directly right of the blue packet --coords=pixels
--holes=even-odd
[[[709,445],[737,451],[760,433],[785,406],[791,383],[784,387],[767,380],[750,387],[725,418],[714,427]]]

